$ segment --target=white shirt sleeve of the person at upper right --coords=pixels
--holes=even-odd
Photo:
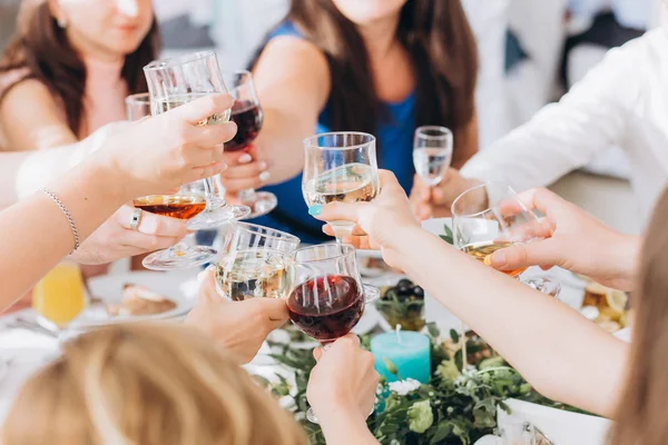
[[[480,151],[461,175],[525,190],[548,186],[587,165],[599,150],[620,145],[641,82],[642,39],[610,50],[561,101]]]

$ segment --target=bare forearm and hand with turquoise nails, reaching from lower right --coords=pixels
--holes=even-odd
[[[422,230],[396,178],[381,175],[383,189],[374,202],[330,204],[317,218],[356,221],[389,265],[471,326],[541,394],[611,416],[628,346],[566,305]]]

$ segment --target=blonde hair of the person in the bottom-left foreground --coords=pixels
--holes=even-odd
[[[3,445],[306,444],[291,416],[206,338],[183,326],[86,334],[31,377]]]

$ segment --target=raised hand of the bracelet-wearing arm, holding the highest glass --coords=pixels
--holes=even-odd
[[[89,160],[120,175],[128,197],[159,194],[217,175],[225,169],[223,144],[234,137],[236,125],[199,122],[233,103],[229,95],[208,96],[131,122],[109,135]]]

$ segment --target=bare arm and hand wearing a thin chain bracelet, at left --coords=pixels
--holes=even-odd
[[[218,172],[234,123],[197,127],[232,106],[229,96],[199,99],[115,135],[94,159],[50,186],[86,239],[122,202]],[[153,144],[146,144],[150,140]],[[137,150],[137,146],[143,147]],[[147,148],[148,147],[148,148]],[[0,212],[0,310],[32,287],[75,246],[63,212],[43,194]]]

